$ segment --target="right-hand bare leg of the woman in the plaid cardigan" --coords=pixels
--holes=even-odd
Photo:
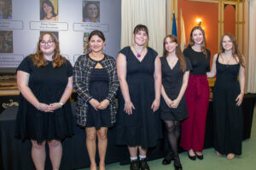
[[[97,137],[98,137],[98,150],[100,156],[100,170],[105,170],[105,156],[107,151],[108,145],[108,127],[101,127],[97,130]]]

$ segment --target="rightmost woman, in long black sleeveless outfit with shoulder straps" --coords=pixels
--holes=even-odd
[[[236,38],[231,34],[224,34],[221,38],[220,53],[214,55],[212,70],[207,72],[207,77],[215,75],[214,148],[218,156],[224,154],[228,159],[233,159],[235,154],[241,155],[241,102],[245,88],[245,59],[237,47]]]

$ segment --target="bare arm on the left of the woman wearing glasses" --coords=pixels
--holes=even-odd
[[[39,111],[49,111],[52,110],[49,108],[49,105],[40,103],[35,95],[32,93],[32,90],[28,87],[30,74],[25,71],[17,71],[17,84],[20,90],[20,93],[24,96],[24,98],[32,104]]]

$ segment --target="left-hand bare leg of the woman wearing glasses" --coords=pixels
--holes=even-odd
[[[32,160],[37,170],[44,170],[44,163],[45,163],[45,141],[42,144],[38,144],[37,141],[32,140]]]

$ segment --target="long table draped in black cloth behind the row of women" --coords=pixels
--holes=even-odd
[[[242,104],[244,116],[243,139],[249,139],[253,120],[253,108],[256,95],[245,95]],[[75,103],[72,103],[73,113]],[[22,142],[15,139],[15,117],[18,107],[9,107],[0,115],[0,169],[3,170],[30,170],[35,169],[31,158],[31,143],[26,140]],[[89,167],[90,161],[85,149],[85,132],[83,128],[76,126],[75,116],[74,136],[63,141],[63,156],[60,169],[70,170]],[[212,147],[212,102],[209,104],[207,115],[207,127],[205,137],[205,148]],[[108,150],[106,163],[121,162],[129,163],[129,152],[126,146],[115,145],[115,127],[108,130]],[[165,155],[167,148],[166,138],[160,139],[156,147],[148,149],[148,160],[158,159]],[[47,150],[48,152],[48,150]],[[96,156],[98,160],[98,156]],[[51,169],[49,157],[47,156],[45,169]]]

